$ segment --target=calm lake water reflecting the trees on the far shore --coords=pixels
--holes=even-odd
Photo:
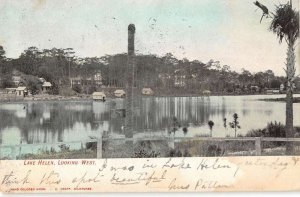
[[[300,95],[294,95],[295,97]],[[139,134],[167,135],[173,117],[181,128],[176,136],[208,135],[207,122],[212,120],[214,137],[234,136],[228,123],[238,114],[238,134],[266,127],[268,122],[285,123],[285,103],[258,99],[285,95],[211,96],[211,97],[144,97],[136,101],[135,131]],[[36,101],[0,103],[0,144],[35,144],[88,140],[103,131],[111,136],[123,135],[124,117],[116,109],[123,99],[93,101]],[[300,126],[300,103],[294,104],[294,125]],[[224,127],[223,119],[227,119]]]

